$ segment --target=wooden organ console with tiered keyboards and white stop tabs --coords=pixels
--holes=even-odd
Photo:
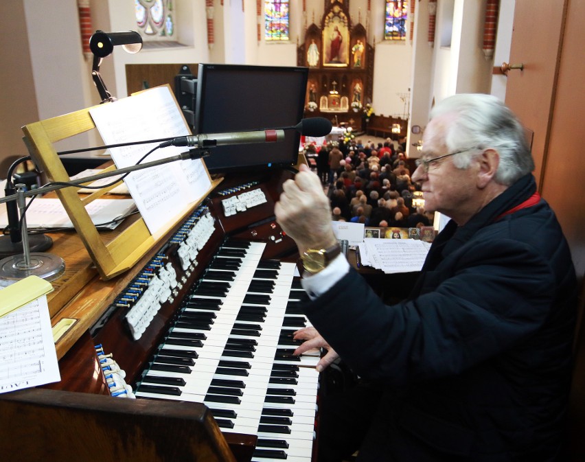
[[[56,284],[49,303],[54,324],[76,325],[56,343],[62,380],[0,395],[6,459],[310,461],[319,352],[292,355],[306,294],[273,217],[290,177],[224,178],[106,281],[75,233],[56,235],[68,277],[88,281]]]

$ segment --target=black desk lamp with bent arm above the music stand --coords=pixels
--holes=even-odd
[[[89,39],[89,48],[93,53],[93,67],[91,68],[91,78],[100,93],[102,103],[115,101],[116,98],[106,89],[106,84],[100,76],[100,65],[102,59],[110,56],[114,47],[122,45],[122,49],[128,53],[135,54],[142,49],[142,37],[138,32],[128,30],[126,32],[104,32],[96,30],[95,34]]]

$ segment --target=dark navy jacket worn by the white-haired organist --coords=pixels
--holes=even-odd
[[[501,216],[535,191],[525,176],[449,222],[408,300],[384,305],[350,270],[306,306],[356,373],[386,383],[391,460],[561,460],[575,270],[544,200]]]

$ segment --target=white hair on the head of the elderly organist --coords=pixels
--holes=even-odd
[[[442,134],[448,151],[466,150],[455,156],[457,168],[467,168],[474,155],[493,149],[500,157],[494,176],[497,183],[512,185],[534,170],[523,126],[497,97],[480,93],[452,95],[431,110],[430,118],[441,115],[454,116]]]

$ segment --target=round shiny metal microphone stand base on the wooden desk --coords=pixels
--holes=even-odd
[[[0,280],[20,281],[28,276],[38,276],[47,281],[57,279],[65,271],[65,261],[52,253],[31,253],[30,265],[24,255],[13,255],[0,260]]]

